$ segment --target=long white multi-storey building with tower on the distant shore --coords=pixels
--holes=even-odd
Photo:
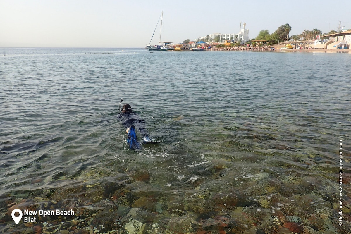
[[[210,42],[225,42],[231,40],[233,42],[242,42],[245,43],[249,40],[249,29],[245,28],[246,24],[244,23],[244,28],[241,28],[240,22],[240,31],[239,33],[212,33],[206,36],[202,36],[200,39],[210,43]]]

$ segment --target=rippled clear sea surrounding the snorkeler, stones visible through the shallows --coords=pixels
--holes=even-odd
[[[46,232],[350,229],[349,54],[1,51],[0,232],[33,229],[16,207],[77,212]],[[160,145],[127,149],[121,98]]]

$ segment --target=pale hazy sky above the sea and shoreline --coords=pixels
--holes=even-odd
[[[145,47],[196,40],[212,33],[249,38],[284,24],[289,35],[351,28],[351,7],[329,0],[147,1],[0,0],[0,47]],[[157,22],[163,11],[162,30]]]

